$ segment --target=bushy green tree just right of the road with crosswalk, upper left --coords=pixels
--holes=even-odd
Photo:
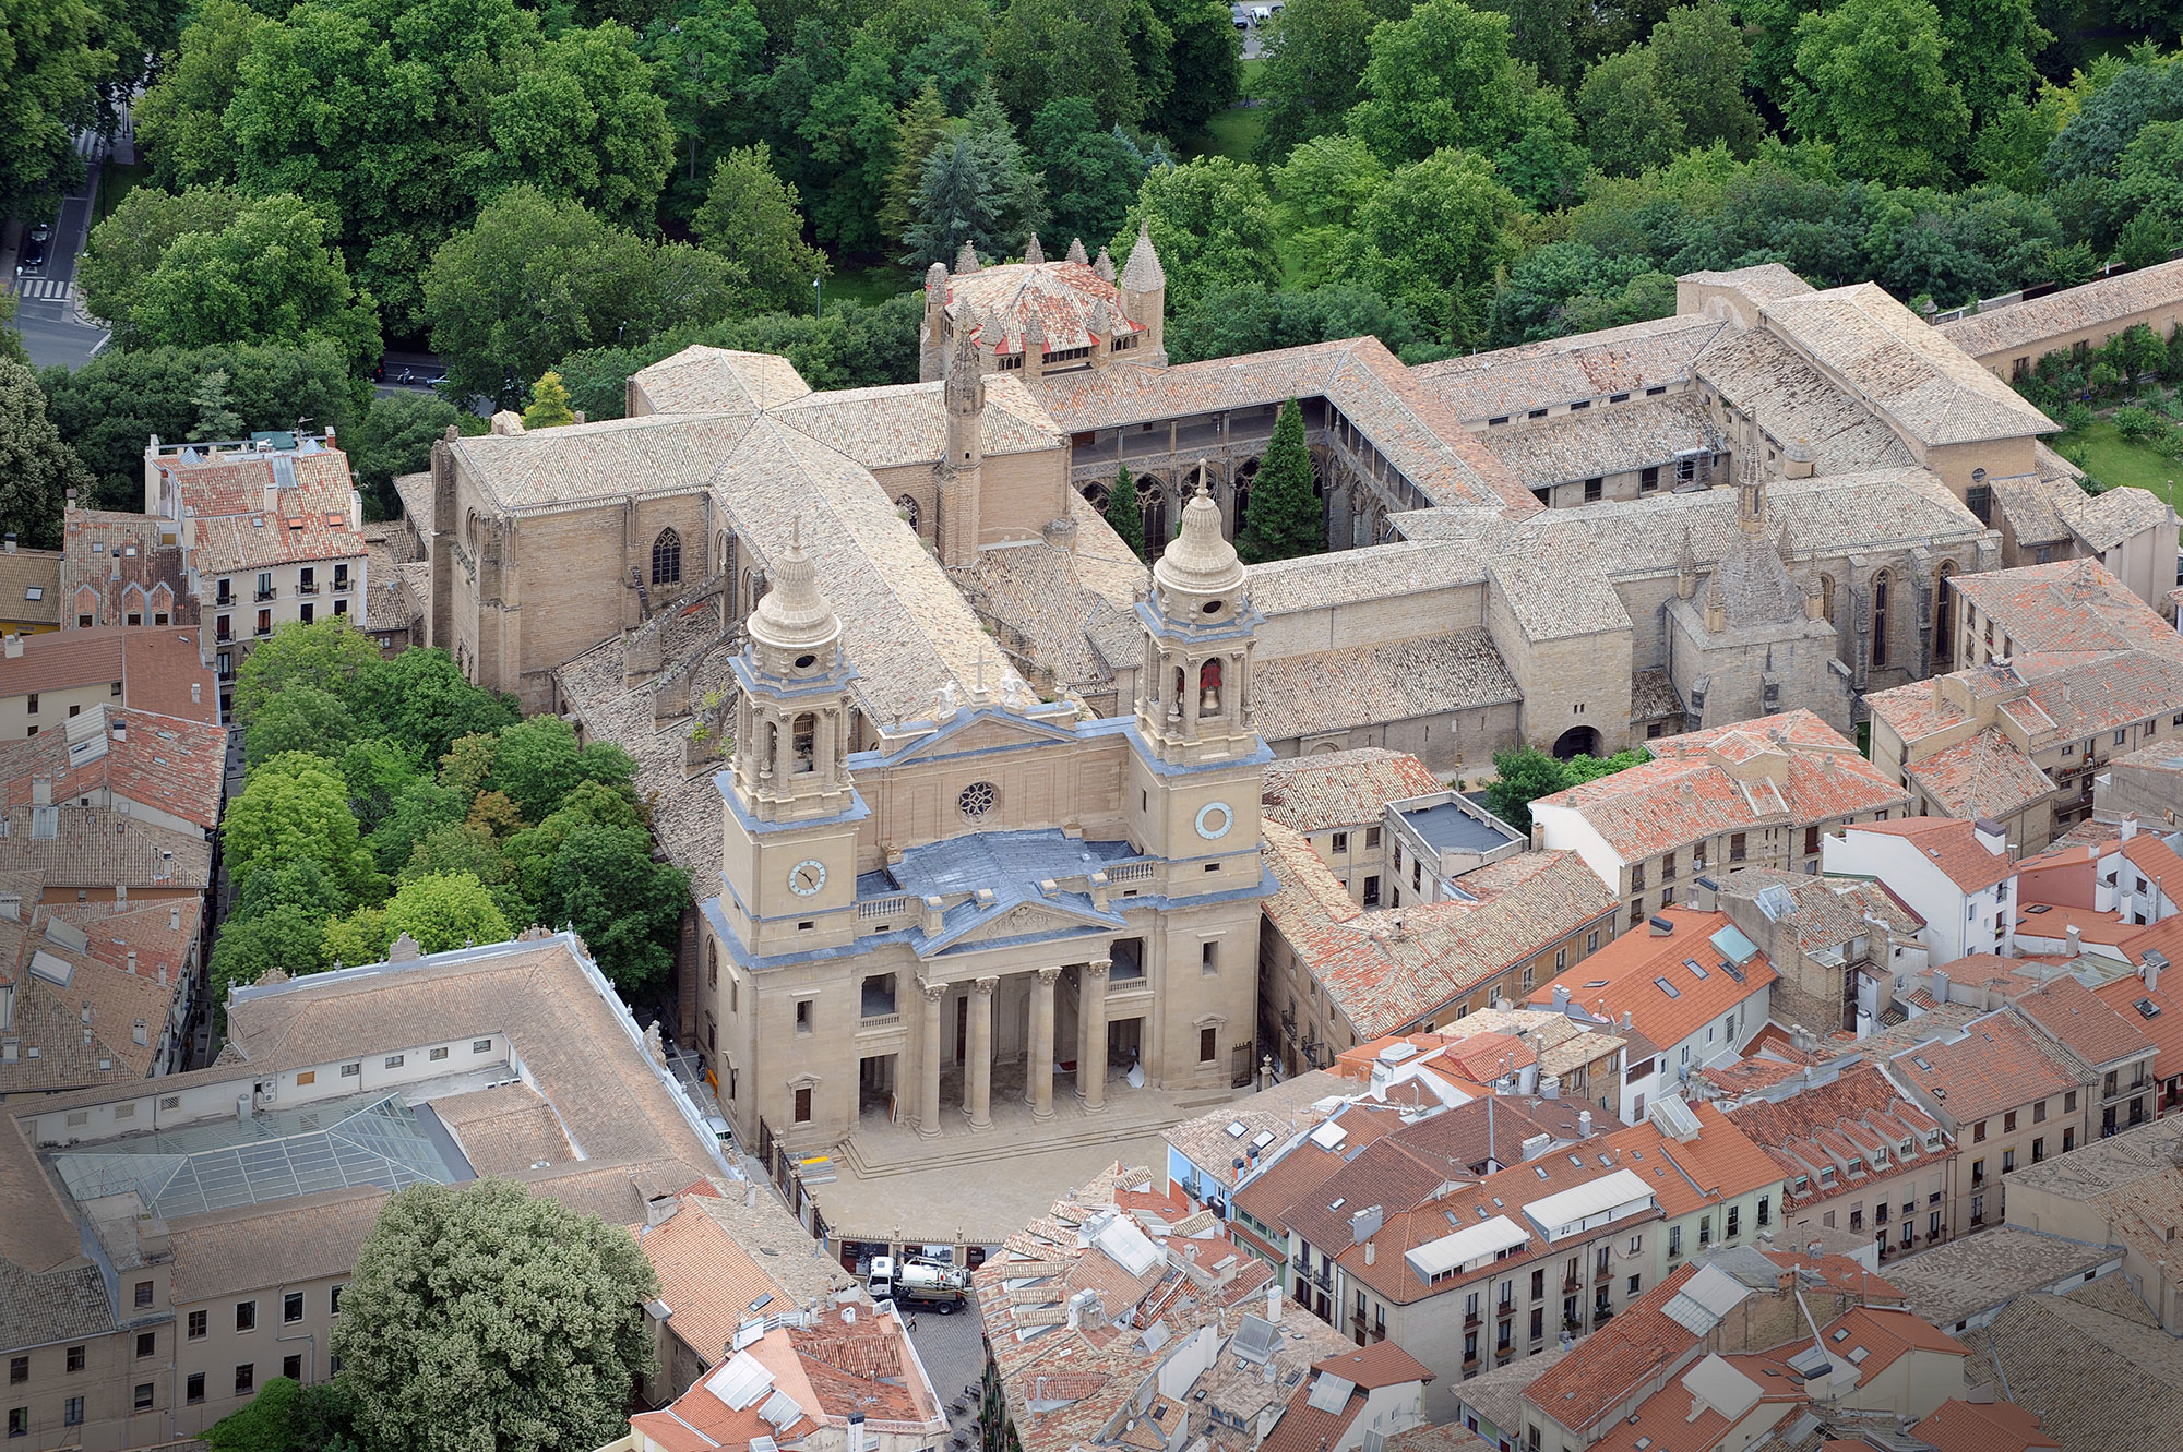
[[[251,201],[216,231],[186,231],[135,288],[127,340],[203,349],[323,336],[362,368],[380,353],[378,314],[330,242],[325,218],[299,196]]]

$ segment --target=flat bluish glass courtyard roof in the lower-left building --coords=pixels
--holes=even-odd
[[[351,1094],[251,1118],[111,1140],[52,1155],[79,1201],[135,1190],[159,1217],[258,1206],[314,1190],[375,1184],[386,1190],[454,1184],[469,1166],[450,1164],[399,1094]]]

